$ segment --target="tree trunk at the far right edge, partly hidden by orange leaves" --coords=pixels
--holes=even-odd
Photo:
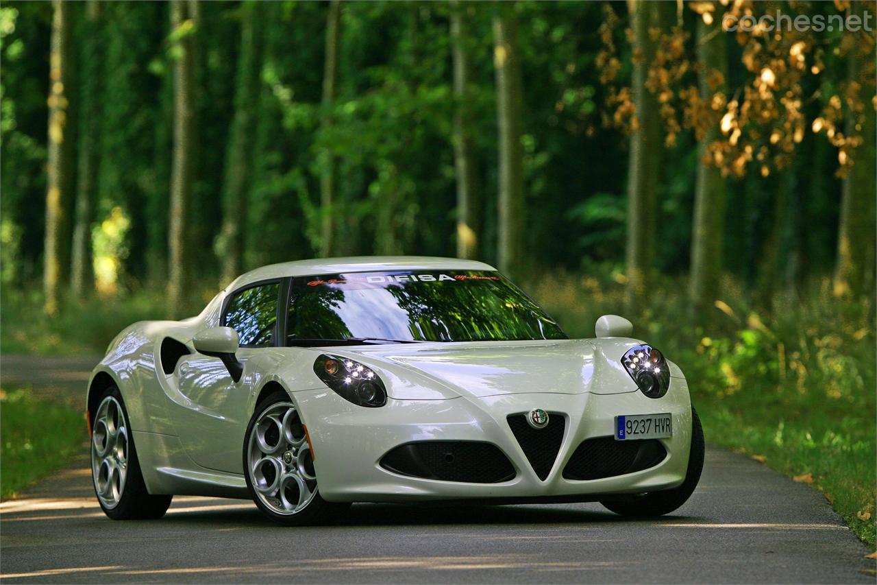
[[[862,17],[864,3],[853,2],[851,12]],[[852,34],[852,33],[851,33]],[[862,35],[873,32],[861,32]],[[834,293],[838,297],[859,299],[863,296],[873,301],[874,296],[874,78],[873,49],[869,54],[859,53],[861,47],[870,44],[856,43],[847,55],[847,81],[859,83],[859,100],[862,107],[861,128],[854,112],[847,112],[845,135],[860,135],[862,143],[852,153],[852,168],[844,178],[838,226],[838,261],[834,275]],[[869,69],[870,61],[870,69]]]

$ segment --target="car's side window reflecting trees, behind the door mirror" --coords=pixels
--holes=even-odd
[[[241,346],[274,344],[280,284],[253,286],[232,297],[225,308],[225,326],[238,332]]]

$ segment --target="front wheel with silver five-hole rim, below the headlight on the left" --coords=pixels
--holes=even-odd
[[[350,507],[326,502],[317,489],[310,441],[296,405],[278,390],[256,405],[244,435],[246,488],[278,524],[325,524]]]

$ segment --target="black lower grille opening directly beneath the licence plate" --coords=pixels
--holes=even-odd
[[[648,469],[667,457],[657,439],[616,441],[599,437],[582,441],[563,469],[566,480],[599,480]]]

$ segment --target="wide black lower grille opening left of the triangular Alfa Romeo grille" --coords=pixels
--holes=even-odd
[[[495,444],[478,441],[417,441],[394,447],[381,467],[427,480],[499,483],[515,477],[515,467]]]

